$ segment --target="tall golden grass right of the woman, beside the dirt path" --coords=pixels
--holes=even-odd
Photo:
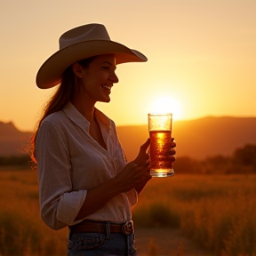
[[[256,255],[256,176],[153,179],[133,211],[137,227],[181,228],[216,256]]]

